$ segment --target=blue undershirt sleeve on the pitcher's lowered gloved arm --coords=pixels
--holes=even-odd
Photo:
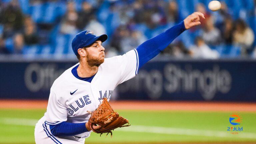
[[[74,136],[88,132],[85,123],[68,123],[62,122],[57,125],[50,125],[51,133],[54,136]]]

